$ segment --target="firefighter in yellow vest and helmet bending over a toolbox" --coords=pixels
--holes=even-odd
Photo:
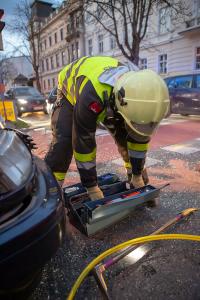
[[[150,138],[165,117],[169,95],[151,70],[131,70],[111,57],[82,57],[58,76],[52,113],[53,139],[45,157],[62,185],[72,156],[92,200],[103,198],[97,184],[97,124],[102,122],[118,146],[129,181],[142,187]]]

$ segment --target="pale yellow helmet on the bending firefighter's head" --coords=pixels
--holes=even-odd
[[[114,86],[118,112],[137,134],[151,136],[169,109],[164,80],[151,70],[130,71]]]

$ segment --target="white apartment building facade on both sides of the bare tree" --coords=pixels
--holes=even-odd
[[[155,7],[140,45],[140,67],[163,77],[200,72],[200,0],[189,0],[187,21],[173,20],[166,7]],[[111,34],[85,17],[86,55],[111,55],[126,61]],[[123,37],[123,29],[121,37]]]

